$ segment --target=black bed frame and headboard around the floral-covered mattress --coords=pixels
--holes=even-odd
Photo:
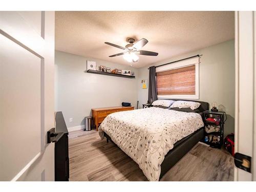
[[[184,100],[184,99],[169,99],[169,100]],[[201,105],[198,108],[200,113],[206,110],[209,110],[209,104],[207,102],[197,101],[197,100],[184,100],[184,101],[195,101],[195,102],[201,103]],[[109,140],[112,141],[111,137],[108,134],[106,134],[105,132],[103,133],[104,133],[104,137],[106,138],[106,142],[109,142]],[[164,160],[161,164],[161,174],[159,179],[161,179],[164,176],[164,174],[168,172],[170,168],[172,168],[184,155],[186,155],[187,152],[191,150],[191,148],[193,148],[203,138],[204,138],[204,128],[201,127],[193,134],[188,135],[187,137],[181,139],[180,141],[177,141],[174,144],[174,148],[172,148],[172,150],[170,150],[164,157]]]

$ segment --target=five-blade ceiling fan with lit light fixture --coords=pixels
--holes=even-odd
[[[139,59],[137,54],[149,55],[149,56],[157,56],[158,55],[158,53],[156,53],[156,52],[140,50],[148,42],[148,40],[146,40],[145,38],[140,39],[135,44],[134,44],[134,42],[135,42],[134,38],[128,38],[127,41],[129,42],[129,44],[126,45],[125,47],[112,44],[111,42],[105,42],[105,44],[107,44],[107,45],[124,50],[123,53],[117,53],[115,55],[110,55],[109,57],[123,55],[123,58],[125,60],[127,60],[128,62],[137,62]]]

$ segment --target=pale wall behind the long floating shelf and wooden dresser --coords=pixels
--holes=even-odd
[[[87,60],[112,69],[138,70],[94,58],[55,51],[55,111],[62,111],[68,127],[80,127],[92,108],[137,103],[137,78],[87,73]],[[73,118],[73,122],[69,122]]]

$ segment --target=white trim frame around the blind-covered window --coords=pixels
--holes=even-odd
[[[195,88],[196,88],[195,95],[157,95],[158,99],[166,99],[166,98],[199,99],[199,63],[200,63],[199,59],[200,59],[200,57],[190,58],[190,59],[186,59],[184,61],[178,61],[175,63],[170,63],[168,65],[157,67],[156,73],[195,65],[195,76],[196,76],[195,77],[196,78],[195,79],[196,80],[195,81]],[[156,76],[156,78],[157,78],[157,76]]]

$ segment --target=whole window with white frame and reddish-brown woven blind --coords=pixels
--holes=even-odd
[[[158,98],[199,99],[199,58],[156,68]]]

